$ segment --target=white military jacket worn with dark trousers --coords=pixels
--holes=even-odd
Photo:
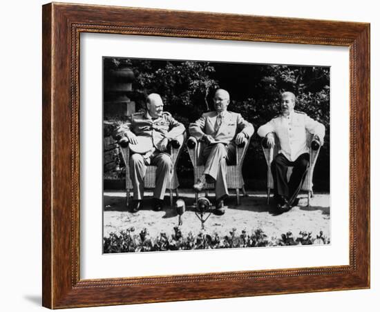
[[[294,162],[303,153],[310,153],[307,146],[307,132],[318,135],[323,142],[325,126],[296,110],[288,116],[274,117],[257,130],[260,137],[265,137],[268,133],[276,133],[280,142],[278,153],[282,153],[290,162]]]

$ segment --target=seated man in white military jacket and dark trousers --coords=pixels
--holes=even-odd
[[[294,110],[296,97],[292,92],[283,92],[281,98],[281,114],[260,126],[257,134],[266,138],[268,146],[274,146],[274,134],[278,137],[280,146],[271,170],[277,208],[280,212],[285,212],[298,204],[297,196],[309,166],[307,131],[314,135],[313,140],[323,145],[325,126],[305,113]],[[289,166],[293,166],[293,171],[287,182]]]

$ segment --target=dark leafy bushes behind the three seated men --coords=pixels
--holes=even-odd
[[[144,108],[146,95],[157,92],[164,101],[164,109],[185,127],[205,111],[213,109],[212,97],[217,88],[229,91],[229,110],[241,113],[254,124],[256,130],[278,115],[281,92],[294,92],[297,97],[295,109],[320,121],[326,127],[325,145],[321,148],[314,171],[314,188],[328,190],[330,68],[109,58],[104,59],[104,70],[114,69],[126,63],[131,64],[135,75],[133,90],[129,92],[128,97],[136,102],[137,110]],[[186,154],[187,151],[184,150],[184,155],[178,163],[182,178],[191,177],[193,170]],[[251,139],[243,174],[246,181],[259,181],[257,185],[251,184],[251,187],[260,189],[265,187],[266,170],[260,139],[255,134]],[[181,184],[184,185],[182,182]]]

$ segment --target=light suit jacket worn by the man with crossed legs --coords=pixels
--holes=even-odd
[[[196,139],[203,135],[211,135],[216,142],[229,143],[240,131],[246,137],[254,134],[254,126],[240,114],[225,111],[222,113],[222,123],[217,126],[218,113],[216,111],[203,113],[202,117],[189,125],[189,133]]]

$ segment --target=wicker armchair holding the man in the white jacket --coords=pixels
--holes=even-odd
[[[269,148],[267,146],[267,140],[265,138],[261,141],[261,147],[263,148],[265,160],[267,162],[267,204],[269,204],[271,188],[274,188],[271,164],[274,157],[276,157],[276,155],[278,154],[278,146],[280,145],[278,142],[278,137],[276,135],[274,135],[274,137],[275,137],[274,148]],[[316,159],[318,158],[319,150],[321,149],[320,144],[312,145],[312,142],[313,142],[313,135],[311,133],[308,133],[307,146],[310,148],[310,163],[309,163],[309,168],[307,168],[305,181],[303,182],[303,185],[301,187],[301,191],[307,191],[307,206],[310,206],[310,198],[313,197],[314,195],[312,179],[313,179],[314,166],[316,164]],[[292,175],[292,170],[293,170],[292,167],[289,167],[289,169],[287,170],[288,180],[289,180],[290,175]]]

